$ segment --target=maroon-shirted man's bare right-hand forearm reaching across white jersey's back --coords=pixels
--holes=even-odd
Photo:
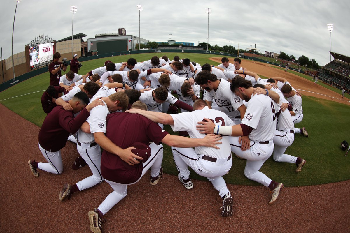
[[[167,144],[168,146],[189,148],[189,147],[197,147],[197,146],[206,146],[213,147],[219,149],[216,145],[221,144],[222,137],[220,135],[215,135],[214,133],[210,133],[206,135],[204,138],[188,138],[182,136],[176,136],[167,134],[163,139],[162,143]]]

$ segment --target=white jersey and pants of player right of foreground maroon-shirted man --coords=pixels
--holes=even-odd
[[[192,112],[171,114],[170,116],[174,120],[174,125],[170,125],[172,129],[174,131],[187,131],[191,138],[205,137],[205,134],[196,129],[197,122],[203,121],[204,117],[219,125],[231,126],[235,124],[223,112],[208,107]],[[211,181],[214,188],[219,191],[220,197],[229,192],[222,176],[232,166],[229,137],[223,137],[221,141],[222,144],[217,145],[219,150],[203,146],[195,147],[195,149],[172,147],[179,176],[185,180],[188,179],[190,176],[188,166],[190,166],[198,175],[207,177]]]

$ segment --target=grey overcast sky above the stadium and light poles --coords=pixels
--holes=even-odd
[[[15,0],[1,0],[0,24],[3,59],[11,56],[12,26]],[[179,42],[207,42],[230,45],[240,49],[251,45],[265,51],[283,51],[315,59],[318,64],[329,62],[330,33],[327,23],[334,24],[332,51],[350,56],[350,1],[116,1],[116,0],[22,0],[17,7],[14,28],[14,53],[24,51],[26,44],[39,35],[59,40],[72,33],[71,5],[77,5],[73,34],[83,33],[84,41],[100,33],[139,35],[141,11],[142,38],[167,41],[168,34]]]

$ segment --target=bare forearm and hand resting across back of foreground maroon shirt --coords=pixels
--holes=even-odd
[[[116,144],[114,144],[109,138],[107,138],[103,132],[93,133],[93,136],[95,137],[96,143],[100,145],[100,147],[102,147],[103,150],[118,155],[123,161],[127,162],[129,165],[135,165],[137,163],[140,163],[136,159],[142,159],[142,157],[135,155],[131,152],[131,150],[134,147],[122,149]]]

